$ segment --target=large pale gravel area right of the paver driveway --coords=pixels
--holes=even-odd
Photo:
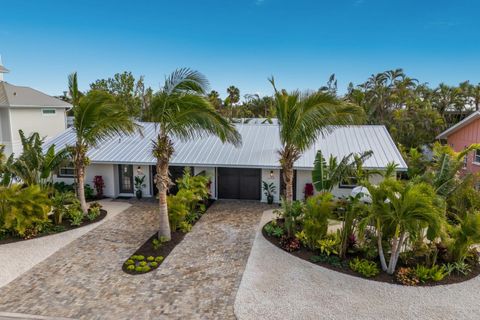
[[[238,319],[480,319],[480,277],[402,287],[338,273],[296,258],[260,232],[235,301]]]

